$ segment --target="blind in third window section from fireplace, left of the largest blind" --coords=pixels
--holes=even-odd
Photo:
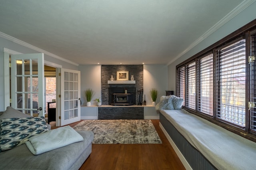
[[[213,54],[198,60],[198,111],[213,115]]]

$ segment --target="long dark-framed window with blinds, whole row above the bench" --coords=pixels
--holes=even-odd
[[[176,66],[183,108],[256,142],[256,20]]]

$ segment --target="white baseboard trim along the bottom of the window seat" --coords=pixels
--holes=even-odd
[[[162,126],[162,124],[160,122],[159,122],[159,126],[162,129],[162,131],[164,132],[164,135],[166,136],[166,138],[168,139],[170,144],[172,145],[172,148],[174,149],[174,151],[176,152],[176,154],[180,158],[180,161],[182,162],[182,164],[186,168],[186,170],[193,170],[191,168],[191,166],[188,164],[187,160],[182,155],[182,153],[180,152],[180,150],[178,149],[178,147],[176,146],[176,144],[173,142],[172,138],[169,136],[169,134],[166,132],[166,130],[164,129],[164,127]]]

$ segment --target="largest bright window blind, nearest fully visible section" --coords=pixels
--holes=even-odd
[[[245,127],[245,39],[218,50],[216,117]]]

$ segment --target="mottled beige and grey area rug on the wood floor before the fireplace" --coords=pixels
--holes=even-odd
[[[162,143],[151,120],[84,120],[73,128],[91,130],[93,144]]]

